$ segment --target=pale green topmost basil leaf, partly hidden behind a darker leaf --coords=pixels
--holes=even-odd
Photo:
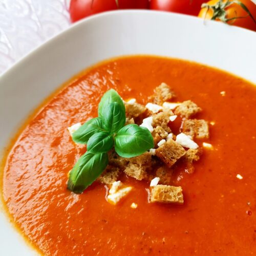
[[[103,117],[103,114],[102,114],[102,112],[104,111],[104,109],[110,104],[110,103],[112,103],[112,102],[117,102],[117,103],[119,103],[120,104],[120,106],[121,106],[121,109],[124,111],[124,113],[125,113],[125,106],[124,106],[124,104],[123,104],[123,100],[122,100],[122,98],[119,96],[119,94],[115,91],[115,90],[113,90],[113,89],[111,89],[111,90],[109,90],[108,92],[106,92],[103,96],[102,96],[102,98],[101,98],[101,100],[100,100],[100,102],[99,102],[99,107],[98,107],[98,116],[99,117]]]

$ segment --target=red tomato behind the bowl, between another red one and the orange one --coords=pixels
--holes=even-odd
[[[151,0],[150,9],[197,16],[205,0]]]

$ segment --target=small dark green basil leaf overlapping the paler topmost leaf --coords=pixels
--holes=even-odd
[[[102,127],[111,134],[118,132],[125,124],[125,111],[117,102],[107,105],[102,114]]]

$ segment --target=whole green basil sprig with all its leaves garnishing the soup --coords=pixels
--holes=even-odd
[[[87,152],[79,158],[69,175],[68,189],[80,194],[90,186],[108,165],[107,152],[113,146],[121,157],[135,157],[154,147],[146,128],[125,124],[125,106],[118,93],[106,92],[98,107],[98,116],[73,133],[73,141],[87,144]]]

